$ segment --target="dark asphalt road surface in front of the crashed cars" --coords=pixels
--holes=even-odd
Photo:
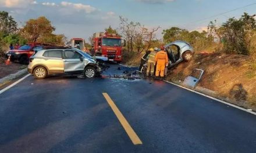
[[[143,144],[132,143],[102,93]],[[255,127],[255,115],[162,81],[30,76],[0,94],[1,153],[255,152]]]

